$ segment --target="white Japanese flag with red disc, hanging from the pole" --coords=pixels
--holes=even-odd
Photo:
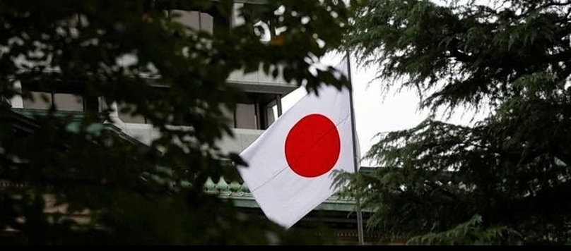
[[[345,59],[336,68],[348,73]],[[264,214],[284,228],[337,191],[334,170],[355,171],[350,92],[324,84],[318,91],[302,97],[240,153],[248,164],[237,167],[242,179]]]

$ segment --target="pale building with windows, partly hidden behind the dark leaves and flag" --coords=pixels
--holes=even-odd
[[[235,11],[245,9],[245,11],[257,11],[261,1],[236,1]],[[194,27],[196,30],[206,32],[218,32],[228,29],[232,25],[242,22],[242,16],[235,13],[232,18],[221,18],[214,11],[200,10],[172,10],[169,11],[172,20]],[[245,15],[247,16],[247,15]],[[273,34],[269,32],[270,36]],[[271,37],[267,37],[271,39]],[[123,59],[129,63],[129,57]],[[218,142],[223,152],[241,152],[264,132],[281,116],[282,98],[290,92],[298,89],[292,82],[286,82],[278,76],[273,78],[266,75],[264,71],[254,73],[243,73],[236,71],[228,78],[228,83],[239,87],[246,95],[240,100],[234,111],[227,111],[229,125],[232,128],[234,137],[225,137]],[[20,86],[22,87],[22,86]],[[23,87],[26,88],[26,87]],[[14,111],[19,114],[37,113],[50,109],[52,104],[56,104],[61,114],[81,114],[87,109],[105,109],[104,102],[93,97],[81,97],[66,90],[35,90],[32,92],[35,99],[22,99],[13,97],[10,104]],[[40,98],[41,96],[47,99]],[[149,145],[158,137],[159,131],[141,116],[130,116],[122,114],[122,104],[112,104],[114,109],[114,128],[129,140],[136,140],[143,145]],[[247,187],[237,180],[225,180],[225,178],[209,178],[205,184],[206,192],[216,194],[228,200],[232,200],[236,207],[249,210],[252,214],[262,215],[252,194]],[[327,224],[334,228],[336,235],[343,243],[355,244],[358,241],[357,217],[355,216],[355,201],[337,195],[331,196],[328,200],[319,205],[313,212],[307,214],[294,227],[303,228],[316,222]],[[365,219],[367,214],[365,212]],[[374,243],[378,239],[378,233],[365,232],[365,241]]]

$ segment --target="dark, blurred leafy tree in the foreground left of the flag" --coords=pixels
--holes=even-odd
[[[308,90],[346,85],[333,68],[314,67],[341,42],[343,1],[251,2],[244,23],[204,32],[168,11],[228,19],[232,1],[0,1],[0,180],[11,184],[0,188],[1,242],[331,241],[283,231],[204,192],[208,177],[239,178],[229,161],[240,161],[237,154],[215,144],[232,135],[223,110],[243,94],[225,82],[230,73],[262,68]],[[264,42],[260,23],[280,33],[269,29],[273,39]],[[122,63],[126,56],[134,60]],[[53,104],[41,116],[20,116],[6,100],[32,99],[30,90],[81,95],[86,111],[65,116]],[[112,130],[111,110],[99,107],[113,102],[144,116],[160,138],[146,146]],[[46,213],[47,204],[65,213]]]

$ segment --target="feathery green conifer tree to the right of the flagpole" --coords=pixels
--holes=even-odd
[[[379,133],[372,173],[339,176],[373,210],[367,226],[412,244],[569,244],[571,2],[355,9],[346,46],[360,65],[434,115]],[[490,113],[473,126],[435,116],[465,108]]]

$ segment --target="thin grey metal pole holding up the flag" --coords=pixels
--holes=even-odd
[[[347,78],[349,83],[351,84],[351,88],[349,89],[349,105],[351,106],[351,137],[353,138],[353,168],[355,170],[355,174],[359,171],[359,156],[360,153],[357,152],[357,135],[355,135],[355,111],[353,109],[353,82],[351,82],[351,54],[349,51],[346,52],[346,60],[347,60]],[[358,193],[355,194],[355,205],[357,212],[357,233],[359,237],[359,245],[365,245],[365,240],[363,237],[363,213],[361,212],[361,205],[360,205],[360,196]]]

